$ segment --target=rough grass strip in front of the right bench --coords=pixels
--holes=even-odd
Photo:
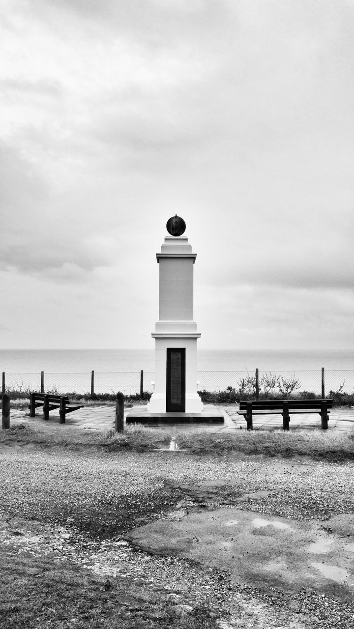
[[[177,443],[178,447],[200,455],[242,452],[268,457],[307,455],[313,459],[332,461],[354,459],[354,435],[334,431],[185,431],[177,433]]]

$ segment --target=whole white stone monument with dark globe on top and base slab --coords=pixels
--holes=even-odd
[[[147,407],[134,406],[127,423],[139,421],[216,421],[224,423],[218,409],[203,409],[197,392],[197,323],[193,320],[193,265],[185,221],[173,216],[167,222],[159,264],[159,320],[155,339],[154,392]]]

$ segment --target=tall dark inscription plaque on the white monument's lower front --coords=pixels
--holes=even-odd
[[[185,348],[167,349],[166,411],[185,412]]]

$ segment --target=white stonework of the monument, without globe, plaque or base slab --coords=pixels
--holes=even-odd
[[[168,236],[159,263],[159,321],[152,338],[155,339],[155,387],[149,413],[166,412],[167,348],[186,350],[185,412],[201,413],[203,404],[197,393],[197,323],[193,321],[193,264],[196,253],[191,252],[188,238]]]

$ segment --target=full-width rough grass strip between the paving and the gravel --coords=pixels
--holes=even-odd
[[[246,431],[222,432],[207,430],[177,430],[178,448],[195,455],[223,455],[241,452],[247,455],[268,457],[295,457],[306,455],[312,459],[330,461],[354,459],[354,433],[334,430],[298,431]],[[166,447],[172,438],[171,430],[129,425],[122,433],[114,428],[106,431],[72,428],[57,422],[31,422],[13,425],[0,430],[0,443],[25,445],[34,443],[42,447],[63,447],[83,450],[103,448],[108,452],[130,450],[151,452]]]

